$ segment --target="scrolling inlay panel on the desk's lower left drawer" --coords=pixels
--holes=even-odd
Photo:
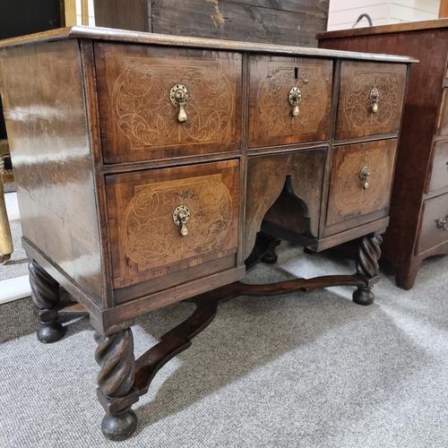
[[[183,237],[173,211],[190,211]],[[221,175],[135,187],[121,224],[121,244],[139,270],[147,270],[220,247],[232,221],[232,199]]]

